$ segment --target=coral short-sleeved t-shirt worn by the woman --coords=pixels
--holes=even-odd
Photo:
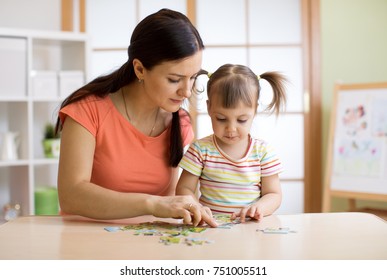
[[[171,125],[156,137],[144,135],[116,109],[109,96],[87,97],[62,108],[66,116],[85,127],[94,137],[91,182],[119,192],[166,195],[173,167],[168,165]],[[193,139],[190,118],[180,110],[184,146]]]

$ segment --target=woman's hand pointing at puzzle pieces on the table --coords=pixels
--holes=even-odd
[[[148,204],[150,213],[155,217],[183,219],[185,224],[194,226],[204,223],[211,227],[217,226],[211,210],[189,195],[152,196]]]

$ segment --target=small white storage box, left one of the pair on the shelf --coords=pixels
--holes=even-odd
[[[58,76],[55,71],[31,72],[32,96],[38,98],[58,97]]]

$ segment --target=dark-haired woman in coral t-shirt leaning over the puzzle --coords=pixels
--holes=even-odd
[[[61,210],[94,219],[140,215],[216,226],[191,196],[174,196],[193,139],[181,109],[201,72],[203,42],[189,19],[160,10],[134,29],[128,61],[61,105]]]

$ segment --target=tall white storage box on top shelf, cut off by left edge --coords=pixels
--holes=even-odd
[[[27,40],[0,37],[0,97],[27,96]]]

